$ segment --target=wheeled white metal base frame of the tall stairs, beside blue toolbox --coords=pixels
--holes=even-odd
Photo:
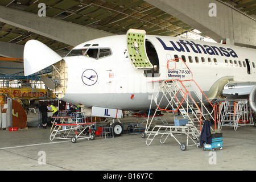
[[[186,150],[188,146],[193,146],[196,145],[197,143],[194,141],[194,139],[197,139],[196,134],[194,132],[193,127],[194,125],[185,125],[185,126],[174,126],[174,125],[156,125],[150,134],[148,135],[146,139],[146,144],[149,146],[156,137],[156,135],[161,135],[160,137],[160,143],[166,142],[166,139],[171,136],[173,137],[177,143],[180,144],[180,149],[181,150]],[[191,136],[189,135],[191,134]],[[151,135],[153,135],[153,138],[150,138]],[[176,138],[177,135],[187,135],[187,142],[186,143],[181,143],[179,140]],[[163,140],[162,140],[163,139]],[[188,140],[191,139],[193,144],[188,144]],[[198,139],[197,139],[198,140]]]

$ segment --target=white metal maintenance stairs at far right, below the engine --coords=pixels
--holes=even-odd
[[[237,127],[254,125],[248,100],[221,102],[218,118],[220,118],[219,129],[228,126],[236,131]]]

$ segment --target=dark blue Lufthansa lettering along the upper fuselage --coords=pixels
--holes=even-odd
[[[208,46],[208,45],[201,45],[196,44],[193,41],[188,40],[179,40],[179,42],[170,41],[172,47],[166,46],[166,43],[163,42],[162,39],[156,38],[162,44],[163,48],[168,51],[178,51],[178,52],[191,52],[191,50],[195,53],[205,53],[209,55],[220,55],[226,57],[238,57],[237,53],[234,52],[233,49],[224,48],[224,47],[216,47],[216,46]]]

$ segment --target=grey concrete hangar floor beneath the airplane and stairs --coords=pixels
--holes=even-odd
[[[173,119],[170,114],[164,117]],[[126,117],[121,121],[136,122],[136,119]],[[213,153],[196,146],[181,151],[171,137],[164,144],[155,139],[150,146],[141,134],[123,134],[114,139],[96,137],[72,143],[71,140],[49,140],[49,127],[0,130],[0,170],[255,170],[256,128],[243,126],[234,131],[223,127],[222,133],[223,149]],[[185,141],[185,138],[179,139]],[[42,156],[46,156],[46,164],[40,164]]]

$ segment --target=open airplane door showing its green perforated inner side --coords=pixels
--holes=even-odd
[[[127,50],[135,70],[152,69],[145,50],[145,31],[130,29],[127,31]]]

